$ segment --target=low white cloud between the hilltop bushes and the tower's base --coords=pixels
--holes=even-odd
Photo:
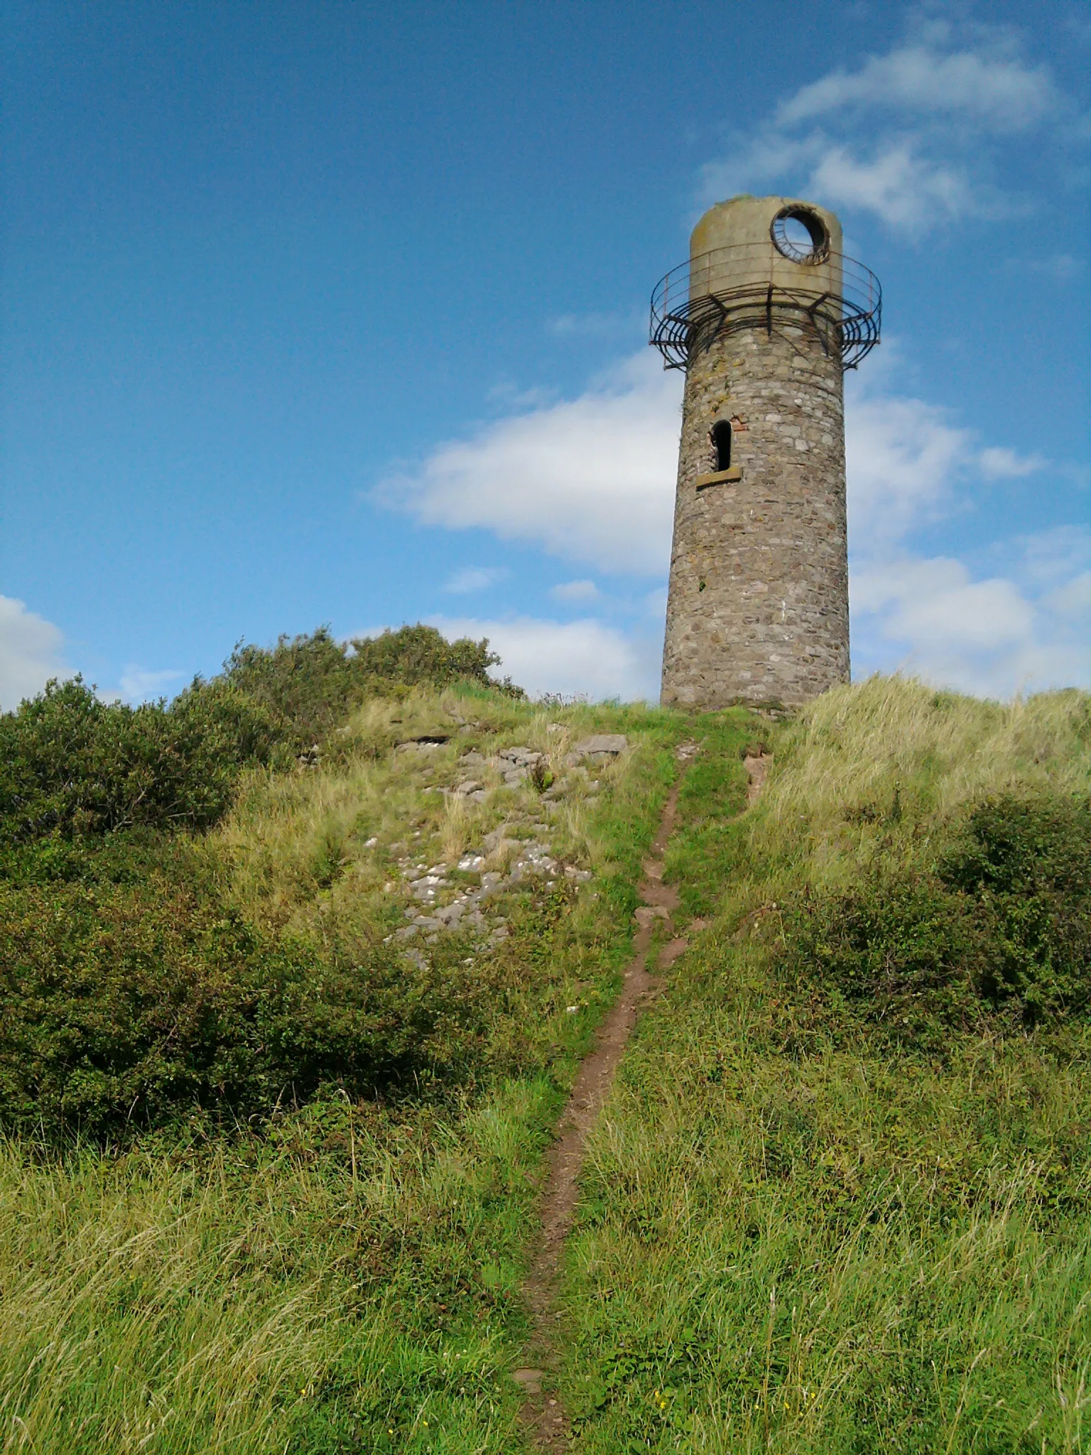
[[[449,640],[487,637],[500,655],[495,674],[511,677],[531,695],[563,693],[626,701],[659,695],[659,643],[634,640],[591,617],[582,621],[432,617],[432,626]]]

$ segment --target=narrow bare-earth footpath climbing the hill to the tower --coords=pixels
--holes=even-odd
[[[557,1141],[550,1152],[548,1176],[541,1197],[541,1231],[531,1272],[524,1285],[534,1334],[527,1349],[527,1368],[516,1369],[512,1375],[525,1391],[522,1422],[532,1446],[538,1451],[570,1449],[567,1416],[548,1388],[543,1390],[547,1372],[556,1366],[556,1334],[560,1318],[556,1299],[560,1256],[576,1209],[576,1183],[583,1167],[583,1147],[588,1132],[610,1096],[618,1062],[640,1011],[662,988],[659,976],[647,969],[647,950],[656,920],[665,920],[669,924],[671,911],[678,906],[678,890],[663,883],[663,854],[678,816],[678,793],[682,777],[695,755],[695,744],[684,744],[676,751],[682,771],[663,805],[652,851],[644,860],[644,879],[639,889],[642,904],[636,911],[637,933],[633,941],[633,959],[626,970],[621,994],[599,1029],[595,1049],[585,1056],[579,1068],[576,1084],[557,1126]],[[748,806],[761,792],[767,767],[768,757],[765,755],[746,758],[746,771],[751,777]],[[700,924],[695,924],[694,928],[700,928]],[[656,969],[668,969],[685,950],[687,943],[684,937],[676,937],[665,944],[659,952]]]

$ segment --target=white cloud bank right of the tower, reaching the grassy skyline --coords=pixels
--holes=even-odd
[[[998,540],[986,554],[1005,569],[991,573],[912,550],[916,530],[973,508],[975,486],[1047,461],[980,448],[947,410],[868,388],[848,381],[845,415],[854,675],[902,665],[992,697],[1091,685],[1090,530]]]

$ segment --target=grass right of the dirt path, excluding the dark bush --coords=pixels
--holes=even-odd
[[[892,1037],[787,912],[924,893],[983,797],[1085,803],[1088,706],[874,679],[777,733],[743,819],[733,765],[691,780],[669,872],[714,918],[623,1064],[569,1250],[588,1455],[1091,1446],[1087,1020],[979,998],[938,1046]]]

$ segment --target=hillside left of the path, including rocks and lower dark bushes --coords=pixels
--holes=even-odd
[[[3,886],[12,1448],[521,1448],[541,1157],[687,728],[419,687],[249,768],[204,837],[26,850]],[[578,751],[595,733],[624,751]],[[58,1152],[73,1109],[105,1131]]]

